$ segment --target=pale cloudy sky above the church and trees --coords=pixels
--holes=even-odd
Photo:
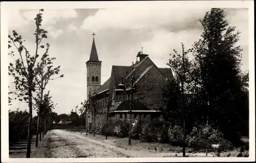
[[[181,51],[198,41],[203,31],[199,19],[210,8],[122,8],[122,9],[45,9],[42,12],[42,28],[49,33],[49,55],[56,57],[54,66],[60,65],[63,78],[49,82],[55,112],[68,113],[87,97],[87,68],[92,46],[92,33],[101,66],[101,84],[111,75],[112,65],[131,65],[143,47],[158,67],[167,67],[169,53]],[[18,32],[26,40],[26,46],[35,51],[34,17],[38,10],[11,10],[8,16],[9,34]],[[248,10],[226,9],[230,26],[241,32],[238,45],[243,49],[242,70],[248,69]],[[40,52],[42,53],[42,52]],[[9,77],[9,84],[12,78]],[[24,110],[28,106],[13,101],[9,109]],[[28,109],[27,109],[28,110]],[[35,114],[34,114],[35,115]]]

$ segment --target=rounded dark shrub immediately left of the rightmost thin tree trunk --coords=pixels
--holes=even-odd
[[[178,125],[170,125],[168,129],[168,137],[170,144],[181,145],[183,140],[183,128]]]

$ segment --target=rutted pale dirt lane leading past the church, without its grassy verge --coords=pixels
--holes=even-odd
[[[51,130],[42,142],[44,156],[48,158],[78,158],[78,157],[127,157],[118,150],[113,150],[104,143],[95,141],[64,130]],[[35,154],[35,157],[42,157]],[[36,152],[37,153],[37,152]]]

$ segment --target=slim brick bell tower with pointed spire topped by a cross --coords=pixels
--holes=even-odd
[[[94,91],[100,87],[101,83],[101,61],[99,61],[96,50],[95,40],[93,35],[93,44],[90,54],[90,59],[86,62],[87,66],[87,99],[89,95],[93,95]]]

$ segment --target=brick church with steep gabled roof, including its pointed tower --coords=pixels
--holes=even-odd
[[[93,36],[95,34],[93,33]],[[93,37],[92,49],[87,64],[87,99],[94,103],[97,111],[89,115],[89,128],[105,122],[109,106],[109,119],[118,121],[130,119],[131,98],[132,119],[156,119],[163,105],[163,89],[173,80],[170,68],[159,68],[147,54],[139,52],[132,65],[113,65],[111,76],[101,85],[101,61]],[[92,112],[92,111],[91,111]]]

